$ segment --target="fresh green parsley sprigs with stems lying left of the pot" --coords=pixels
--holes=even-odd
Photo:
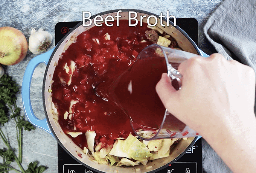
[[[35,127],[26,121],[24,115],[21,115],[20,107],[16,105],[16,94],[20,90],[19,86],[12,80],[11,76],[3,75],[0,78],[0,137],[7,148],[0,149],[0,157],[3,163],[0,163],[0,173],[8,173],[14,170],[18,173],[42,173],[47,169],[45,166],[38,166],[37,162],[31,162],[26,170],[22,167],[22,131],[34,130]],[[18,143],[18,157],[14,153],[9,140],[2,131],[2,127],[10,119],[14,119],[16,124],[17,143]],[[20,170],[15,169],[10,164],[16,161]]]

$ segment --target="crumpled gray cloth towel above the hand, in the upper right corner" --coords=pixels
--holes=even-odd
[[[204,34],[227,60],[238,60],[256,72],[255,0],[222,1],[206,22]]]

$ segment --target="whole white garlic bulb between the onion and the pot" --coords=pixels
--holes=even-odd
[[[43,31],[43,28],[40,28],[36,31],[34,28],[31,30],[29,36],[29,51],[33,54],[39,54],[46,51],[46,49],[52,43],[52,35],[47,31]]]

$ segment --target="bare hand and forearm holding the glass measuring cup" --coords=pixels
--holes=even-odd
[[[162,75],[156,86],[166,109],[203,136],[234,172],[247,172],[246,164],[238,166],[243,161],[247,164],[254,161],[247,168],[255,171],[253,69],[212,54],[183,61],[178,70],[183,75],[180,90],[172,87],[167,74]],[[232,156],[235,161],[230,162],[234,152],[239,155]],[[246,159],[248,153],[254,154],[250,160]]]

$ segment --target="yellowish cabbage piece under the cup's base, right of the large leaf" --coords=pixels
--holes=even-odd
[[[164,158],[164,157],[168,157],[170,155],[170,148],[171,145],[178,140],[178,138],[174,138],[174,139],[163,139],[162,142],[162,146],[161,148],[158,150],[157,153],[154,153],[149,160],[155,160],[158,158]]]

